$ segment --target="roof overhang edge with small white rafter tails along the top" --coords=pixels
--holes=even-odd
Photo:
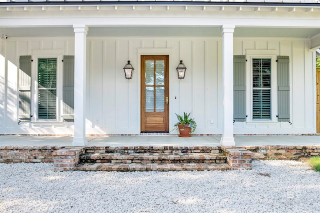
[[[230,2],[230,1],[156,1],[156,0],[136,0],[136,1],[113,1],[113,0],[103,0],[103,1],[73,1],[73,0],[28,0],[28,1],[8,1],[0,2],[0,9],[2,11],[19,11],[19,7],[22,7],[24,11],[32,10],[36,7],[41,7],[41,10],[49,10],[50,7],[58,6],[59,9],[71,9],[76,6],[78,10],[100,10],[107,9],[109,6],[113,6],[115,10],[118,7],[131,6],[134,10],[135,7],[147,6],[152,10],[152,6],[155,6],[155,9],[159,9],[160,6],[165,6],[167,10],[172,8],[174,9],[183,9],[183,10],[212,10],[212,11],[223,11],[223,10],[233,10],[236,11],[305,11],[305,12],[319,12],[320,3],[318,2]],[[64,7],[64,8],[62,8]],[[75,8],[76,8],[75,7]],[[35,9],[36,10],[36,9]]]

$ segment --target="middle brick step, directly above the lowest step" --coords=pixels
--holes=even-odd
[[[94,153],[80,156],[80,163],[226,163],[226,156],[217,153]]]

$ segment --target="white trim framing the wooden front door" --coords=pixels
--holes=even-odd
[[[171,72],[171,63],[172,63],[172,53],[173,53],[173,48],[136,48],[137,50],[137,107],[138,107],[138,112],[137,112],[137,127],[138,131],[141,132],[141,55],[169,55],[169,79],[170,79],[170,72]],[[169,94],[170,94],[170,80],[169,80]],[[170,100],[170,96],[169,96]],[[169,104],[169,131],[171,127],[171,107],[172,104]]]

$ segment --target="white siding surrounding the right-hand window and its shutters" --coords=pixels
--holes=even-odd
[[[246,49],[272,49],[290,60],[290,125],[288,122],[235,122],[234,134],[315,133],[314,75],[312,52],[301,39],[236,38],[234,55]],[[250,66],[247,64],[247,66]],[[272,99],[274,100],[274,99]],[[274,113],[274,112],[271,112]]]

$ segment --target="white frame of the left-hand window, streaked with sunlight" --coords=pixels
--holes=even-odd
[[[38,118],[38,59],[39,58],[56,58],[56,119],[39,119]],[[61,122],[61,101],[62,101],[62,58],[60,54],[36,54],[32,55],[32,89],[31,89],[31,112],[33,117],[31,122]],[[34,70],[34,71],[33,71]]]

